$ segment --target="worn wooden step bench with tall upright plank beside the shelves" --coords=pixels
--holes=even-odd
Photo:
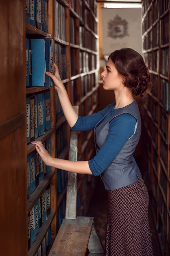
[[[74,107],[78,113],[78,107]],[[77,161],[77,132],[70,132],[69,160]],[[77,174],[68,172],[65,219],[48,256],[104,256],[93,217],[76,217]]]

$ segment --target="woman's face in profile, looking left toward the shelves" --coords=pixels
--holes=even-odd
[[[123,78],[110,59],[107,61],[106,69],[101,73],[101,76],[103,89],[105,90],[120,90],[120,88],[124,87]]]

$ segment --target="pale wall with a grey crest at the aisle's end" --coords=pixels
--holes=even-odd
[[[121,20],[115,22],[118,15]],[[102,8],[102,55],[109,55],[116,49],[129,47],[142,54],[142,9],[141,8]],[[111,30],[116,36],[124,35],[124,21],[127,22],[126,32],[128,35],[112,38],[108,36],[108,22],[112,21]]]

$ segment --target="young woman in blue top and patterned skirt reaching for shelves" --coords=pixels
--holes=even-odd
[[[108,191],[106,256],[152,256],[148,223],[149,197],[133,152],[141,134],[141,119],[134,96],[151,88],[142,56],[130,48],[111,53],[102,72],[105,90],[115,102],[102,111],[79,117],[55,65],[54,81],[66,120],[72,130],[95,132],[96,155],[89,161],[71,162],[51,157],[40,141],[32,142],[46,165],[66,171],[101,175]]]

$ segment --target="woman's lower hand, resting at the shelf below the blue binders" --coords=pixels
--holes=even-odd
[[[52,161],[53,157],[51,155],[49,155],[48,151],[44,148],[42,142],[41,141],[32,141],[31,144],[35,145],[35,148],[36,148],[37,152],[39,153],[40,157],[42,158],[43,162],[46,165],[51,166],[51,161]]]

